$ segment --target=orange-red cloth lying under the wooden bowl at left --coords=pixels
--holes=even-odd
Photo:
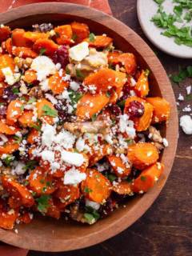
[[[108,0],[6,0],[1,1],[0,5],[0,13],[16,8],[18,6],[26,6],[31,3],[37,2],[70,2],[70,3],[77,3],[83,6],[90,6],[92,8],[101,10],[106,14],[112,14],[109,6]],[[4,246],[0,245],[0,256],[26,256],[29,250],[19,249],[14,246]]]

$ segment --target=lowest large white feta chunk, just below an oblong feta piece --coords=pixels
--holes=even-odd
[[[64,176],[64,184],[78,184],[86,179],[86,174],[81,173],[79,170],[76,170],[74,166],[67,170]]]

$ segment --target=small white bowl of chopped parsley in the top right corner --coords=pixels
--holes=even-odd
[[[167,14],[173,13],[174,4],[170,0],[163,2],[162,6]],[[174,38],[167,38],[161,34],[165,31],[154,25],[154,22],[150,22],[154,14],[157,14],[158,4],[154,0],[138,0],[138,20],[142,26],[142,30],[149,38],[150,42],[158,49],[164,51],[166,54],[170,54],[179,58],[192,58],[192,47],[178,46],[174,42]],[[185,15],[186,10],[183,11]],[[186,23],[186,21],[185,21]],[[176,26],[183,26],[184,23],[175,22]],[[186,23],[186,26],[192,26],[192,22]]]

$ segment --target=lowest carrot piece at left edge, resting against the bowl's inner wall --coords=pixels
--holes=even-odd
[[[6,212],[6,210],[0,208],[0,227],[6,230],[12,230],[14,222],[18,218],[18,210],[19,209],[11,209]]]

